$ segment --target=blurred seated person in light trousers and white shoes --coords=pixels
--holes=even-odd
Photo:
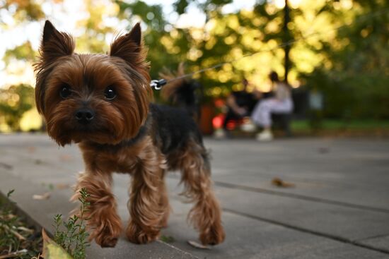
[[[251,114],[252,122],[263,128],[263,131],[257,134],[257,140],[260,141],[273,139],[272,114],[289,114],[294,107],[290,86],[281,82],[274,71],[269,74],[269,79],[272,81],[274,97],[258,102]]]

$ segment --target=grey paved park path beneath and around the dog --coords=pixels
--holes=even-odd
[[[173,213],[157,241],[116,248],[93,245],[88,258],[389,258],[389,140],[304,138],[257,143],[212,140],[212,174],[223,207],[226,241],[193,248],[190,204],[178,195],[179,174],[168,174]],[[35,222],[50,228],[69,212],[75,174],[83,170],[76,145],[58,147],[47,135],[0,135],[0,191]],[[292,183],[272,184],[274,178]],[[114,193],[127,221],[129,176],[116,174]],[[48,200],[32,194],[50,191]]]

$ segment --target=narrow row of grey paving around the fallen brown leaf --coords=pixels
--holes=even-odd
[[[280,188],[274,186],[274,178],[282,179],[293,186]],[[298,179],[287,174],[245,174],[245,175],[215,175],[216,186],[237,188],[257,193],[272,193],[281,196],[294,196],[301,200],[319,200],[323,203],[342,204],[348,207],[365,207],[367,210],[377,210],[389,213],[388,188],[378,186],[371,188],[359,186],[349,188],[342,185],[327,183],[325,181],[315,181]]]

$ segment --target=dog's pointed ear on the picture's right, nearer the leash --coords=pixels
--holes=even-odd
[[[117,37],[112,42],[110,56],[118,56],[135,67],[144,62],[145,54],[142,46],[141,25],[139,23],[126,35]]]

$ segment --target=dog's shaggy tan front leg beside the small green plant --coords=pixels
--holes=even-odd
[[[113,247],[122,231],[122,222],[117,215],[116,200],[110,191],[111,174],[84,173],[80,174],[76,193],[71,200],[79,199],[79,191],[86,188],[88,202],[91,203],[83,217],[88,218],[87,227],[91,233],[90,239],[103,247]]]

